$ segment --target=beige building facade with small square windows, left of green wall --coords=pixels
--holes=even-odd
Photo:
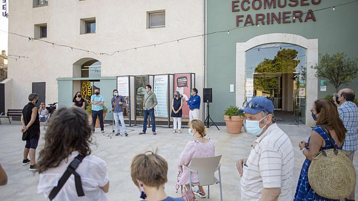
[[[46,103],[61,102],[63,97],[68,99],[69,95],[63,95],[59,90],[59,80],[72,80],[72,88],[66,90],[73,94],[74,90],[80,89],[77,84],[84,79],[79,75],[83,72],[79,66],[83,68],[89,60],[100,62],[98,80],[121,75],[195,73],[195,87],[203,88],[202,37],[159,45],[202,34],[203,1],[69,0],[65,3],[48,0],[42,3],[33,0],[9,2],[9,32],[50,42],[9,34],[9,54],[28,57],[9,61],[8,77],[12,79],[13,88],[11,96],[13,100],[18,100],[12,102],[11,108],[22,108],[27,103],[27,95],[34,89],[33,83],[45,83]],[[155,13],[164,13],[164,26],[154,24],[154,27],[149,27],[150,14]],[[87,21],[93,20],[95,31],[86,30]],[[86,31],[90,33],[86,34]],[[108,54],[158,45],[108,56],[51,43]],[[106,102],[110,102],[112,94],[109,91],[112,92],[116,85],[101,84],[101,87],[106,87],[108,94],[102,92],[102,95],[108,96]],[[71,97],[64,106],[71,106]]]

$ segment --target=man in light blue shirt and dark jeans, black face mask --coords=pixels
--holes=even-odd
[[[93,133],[95,132],[97,116],[100,119],[101,133],[105,133],[105,128],[103,126],[103,103],[105,103],[105,98],[100,94],[100,89],[95,89],[95,95],[91,96],[92,103],[92,124],[93,124]]]

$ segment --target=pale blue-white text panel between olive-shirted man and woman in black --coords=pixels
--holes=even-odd
[[[154,76],[154,93],[158,100],[154,108],[156,117],[168,117],[168,75]]]

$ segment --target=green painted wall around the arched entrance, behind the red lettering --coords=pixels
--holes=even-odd
[[[262,0],[263,1],[263,0]],[[283,2],[284,0],[281,0]],[[275,13],[282,11],[302,10],[304,13],[309,9],[317,10],[337,4],[347,3],[351,0],[321,0],[319,5],[296,6],[276,9],[253,10],[232,12],[231,0],[208,0],[207,1],[207,33],[214,31],[229,30],[236,27],[236,15],[251,14],[255,20],[256,13]],[[252,0],[250,0],[252,2]],[[311,2],[307,0],[305,2]],[[241,1],[240,1],[241,3]],[[239,5],[240,5],[239,3]],[[287,0],[287,4],[290,3]],[[250,6],[252,6],[250,4]],[[238,7],[240,8],[240,7]],[[358,2],[336,7],[332,9],[314,12],[316,21],[308,20],[300,23],[270,24],[250,26],[235,29],[230,34],[218,33],[207,36],[207,87],[213,88],[213,103],[210,107],[211,117],[215,122],[223,121],[223,111],[229,105],[235,104],[235,94],[229,92],[229,85],[235,84],[236,79],[236,43],[262,34],[289,33],[301,35],[307,39],[318,38],[318,51],[320,54],[333,54],[337,51],[347,53],[348,57],[358,57],[358,23],[356,23],[356,11]],[[291,14],[292,15],[292,14]],[[305,15],[304,15],[305,16]],[[292,19],[291,19],[292,20]],[[243,26],[243,22],[240,23]],[[243,72],[244,73],[244,72]],[[319,81],[319,80],[318,80]],[[319,87],[319,84],[317,84]],[[341,86],[344,88],[346,86]],[[358,92],[358,79],[349,84],[350,88]],[[236,89],[235,89],[236,90]],[[318,98],[326,94],[334,93],[334,87],[328,86],[327,92],[319,92]],[[310,103],[308,103],[310,105]]]

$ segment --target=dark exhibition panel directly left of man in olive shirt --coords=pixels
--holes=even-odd
[[[145,85],[148,83],[147,75],[135,77],[135,96],[136,96],[136,115],[143,117],[143,99],[145,92]]]

